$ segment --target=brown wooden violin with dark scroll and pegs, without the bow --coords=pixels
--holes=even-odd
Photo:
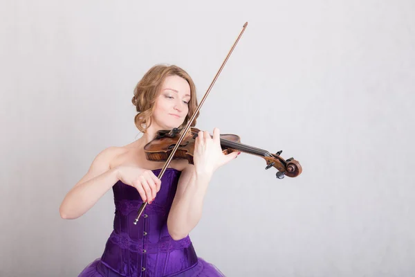
[[[172,154],[172,150],[176,147],[182,132],[183,128],[158,131],[156,138],[144,147],[147,160],[167,161]],[[183,141],[178,145],[176,152],[174,152],[172,159],[187,159],[189,163],[193,164],[194,143],[199,132],[200,129],[190,127],[187,134],[183,137]],[[294,158],[284,160],[280,156],[282,150],[276,154],[271,154],[266,150],[241,143],[241,138],[236,134],[221,134],[220,139],[223,154],[237,151],[262,157],[266,161],[266,170],[272,167],[277,168],[276,175],[278,179],[283,179],[285,175],[297,177],[302,172],[302,167]]]

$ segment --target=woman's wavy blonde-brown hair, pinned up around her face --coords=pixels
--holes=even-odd
[[[156,64],[151,67],[138,82],[134,89],[134,96],[131,99],[131,102],[136,106],[136,111],[138,112],[134,118],[134,123],[140,132],[145,133],[147,128],[151,125],[150,118],[153,114],[154,103],[160,94],[160,89],[165,78],[170,75],[177,75],[185,79],[190,86],[189,112],[179,128],[185,127],[196,111],[198,105],[196,99],[196,86],[190,75],[176,65]],[[198,117],[199,112],[192,122],[192,127],[196,125],[196,118]]]

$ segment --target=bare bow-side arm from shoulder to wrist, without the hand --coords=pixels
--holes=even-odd
[[[116,168],[109,163],[118,148],[107,148],[95,157],[88,172],[66,194],[59,207],[60,216],[73,220],[84,215],[118,181]]]

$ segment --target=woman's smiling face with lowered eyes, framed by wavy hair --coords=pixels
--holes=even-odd
[[[190,86],[177,75],[165,78],[153,111],[153,123],[160,129],[179,127],[189,111]]]

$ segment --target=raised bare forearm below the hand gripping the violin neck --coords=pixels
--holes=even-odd
[[[194,229],[202,216],[203,199],[212,174],[210,172],[192,172],[183,195],[172,204],[167,219],[167,227],[174,240],[180,240]]]

